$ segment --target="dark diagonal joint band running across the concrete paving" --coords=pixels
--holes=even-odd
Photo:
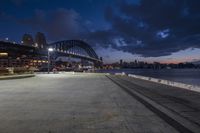
[[[127,92],[129,95],[137,99],[143,105],[145,105],[148,109],[158,115],[161,119],[166,121],[169,125],[174,127],[177,131],[181,133],[199,133],[200,127],[191,123],[190,121],[186,120],[185,118],[178,116],[171,112],[170,110],[166,109],[162,105],[154,102],[153,100],[147,98],[146,96],[134,91],[130,90],[128,87],[118,83],[115,79],[111,78],[110,76],[106,76],[110,79],[113,83],[118,85],[121,89]]]

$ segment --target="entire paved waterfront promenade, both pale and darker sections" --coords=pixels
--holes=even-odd
[[[180,88],[86,73],[37,74],[0,84],[2,133],[200,130],[200,94]]]

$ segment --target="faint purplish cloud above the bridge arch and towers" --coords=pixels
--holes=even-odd
[[[76,11],[62,8],[49,12],[35,10],[33,17],[19,23],[46,32],[51,40],[76,38],[85,30]]]

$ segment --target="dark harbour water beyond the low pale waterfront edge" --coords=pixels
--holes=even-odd
[[[115,69],[98,72],[135,74],[200,86],[200,69]]]

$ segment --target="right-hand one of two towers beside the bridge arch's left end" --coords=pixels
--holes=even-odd
[[[35,46],[43,49],[47,47],[47,42],[46,42],[46,38],[45,35],[41,32],[38,32],[35,36]]]

